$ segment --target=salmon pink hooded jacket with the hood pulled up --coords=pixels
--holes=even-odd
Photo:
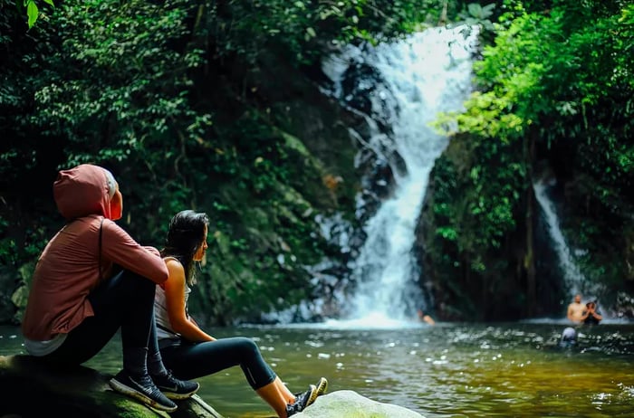
[[[112,221],[108,174],[90,164],[59,172],[53,195],[67,223],[48,242],[35,266],[22,321],[24,337],[46,341],[93,316],[87,297],[100,277],[108,277],[113,263],[156,283],[168,280],[159,251],[139,245]]]

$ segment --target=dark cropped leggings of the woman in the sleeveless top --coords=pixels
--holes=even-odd
[[[247,337],[220,338],[197,344],[183,342],[161,348],[160,354],[163,364],[179,379],[195,379],[240,366],[249,385],[257,390],[276,377],[255,342]]]

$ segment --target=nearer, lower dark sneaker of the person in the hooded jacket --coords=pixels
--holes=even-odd
[[[157,385],[154,385],[152,378],[147,374],[130,375],[127,371],[121,370],[110,379],[109,383],[110,387],[115,391],[136,398],[152,408],[167,411],[168,413],[173,413],[177,410],[177,405],[159,391]]]

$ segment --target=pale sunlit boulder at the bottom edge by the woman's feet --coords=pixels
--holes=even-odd
[[[323,394],[293,418],[425,418],[407,408],[383,404],[351,390]]]

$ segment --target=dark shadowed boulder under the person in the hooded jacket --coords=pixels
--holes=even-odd
[[[164,413],[110,389],[110,375],[90,367],[44,365],[33,356],[0,356],[0,417],[222,418],[197,395]]]

